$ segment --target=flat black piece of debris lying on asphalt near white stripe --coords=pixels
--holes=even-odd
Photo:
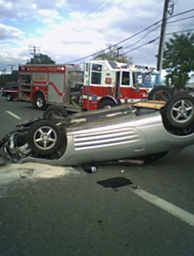
[[[108,178],[107,180],[97,181],[97,183],[105,188],[120,188],[132,184],[131,180],[124,177]]]

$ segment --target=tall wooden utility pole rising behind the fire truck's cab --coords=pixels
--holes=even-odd
[[[173,13],[174,10],[174,0],[165,0],[164,9],[163,9],[163,17],[162,17],[162,26],[161,26],[161,32],[160,32],[160,43],[157,53],[157,70],[162,70],[162,58],[164,53],[164,47],[165,47],[165,32],[167,28],[167,14],[170,14],[170,16]]]

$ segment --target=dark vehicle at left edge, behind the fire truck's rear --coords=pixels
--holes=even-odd
[[[1,88],[1,96],[6,97],[7,101],[18,99],[18,86],[17,82],[7,82],[4,87]]]

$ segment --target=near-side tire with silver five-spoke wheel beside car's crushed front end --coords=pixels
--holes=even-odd
[[[55,123],[41,120],[29,128],[27,141],[29,147],[37,155],[55,155],[57,150],[66,143],[65,137]]]

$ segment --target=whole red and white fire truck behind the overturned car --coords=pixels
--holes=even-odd
[[[160,86],[160,72],[153,68],[108,60],[82,65],[19,65],[19,99],[45,109],[48,104],[68,111],[102,109],[153,97]],[[167,91],[166,86],[160,90]],[[149,97],[150,99],[150,97]]]

